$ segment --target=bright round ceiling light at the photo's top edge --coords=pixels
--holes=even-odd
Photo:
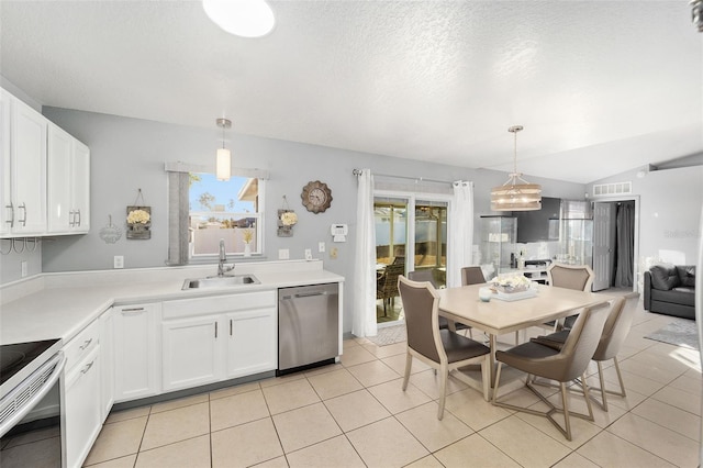
[[[217,26],[242,37],[260,37],[274,29],[274,11],[264,0],[202,0]]]

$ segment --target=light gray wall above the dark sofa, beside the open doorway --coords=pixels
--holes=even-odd
[[[689,265],[698,259],[699,219],[703,203],[703,166],[652,170],[635,169],[594,183],[632,181],[639,196],[639,257],[658,257],[660,250],[681,252]],[[588,187],[593,192],[593,183]],[[594,199],[598,200],[598,199]]]

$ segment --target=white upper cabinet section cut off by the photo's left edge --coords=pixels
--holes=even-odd
[[[2,91],[2,234],[46,233],[46,130],[48,121]],[[9,108],[5,109],[5,108]],[[9,120],[9,125],[4,122]],[[8,151],[9,149],[9,151]]]

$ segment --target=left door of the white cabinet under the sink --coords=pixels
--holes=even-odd
[[[164,322],[164,390],[190,388],[221,379],[221,328],[217,315]]]

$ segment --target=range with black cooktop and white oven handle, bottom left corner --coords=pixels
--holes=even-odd
[[[0,346],[0,466],[66,466],[60,339]]]

